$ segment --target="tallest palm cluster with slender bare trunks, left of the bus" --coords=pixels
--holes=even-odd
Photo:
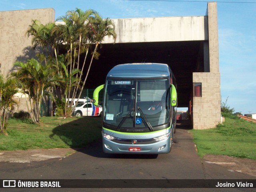
[[[83,11],[76,8],[76,10],[66,12],[65,16],[61,16],[57,20],[63,21],[64,24],[49,23],[42,25],[37,20],[33,20],[32,25],[27,30],[27,35],[32,36],[32,43],[34,46],[42,46],[44,50],[47,50],[49,47],[54,48],[59,76],[66,78],[67,76],[63,73],[63,70],[68,72],[68,88],[66,87],[66,83],[62,84],[64,87],[60,86],[62,96],[66,98],[66,110],[69,99],[72,98],[72,101],[74,101],[78,90],[84,88],[92,61],[96,56],[99,56],[99,54],[97,54],[98,44],[104,40],[105,36],[112,36],[115,41],[116,32],[114,30],[114,23],[109,18],[105,20],[102,19],[102,17],[94,10]],[[58,63],[57,53],[60,46],[66,48],[66,60],[65,62],[62,62],[66,65],[65,69],[62,64]],[[83,70],[90,47],[94,47],[92,58],[88,66],[89,69],[86,72],[86,77],[82,80]],[[83,53],[85,53],[84,62],[82,64],[82,69],[79,70],[80,56]],[[74,69],[76,69],[76,71],[74,71]],[[62,74],[60,74],[60,70],[62,70]],[[66,79],[64,81],[66,82]],[[80,82],[83,82],[82,88],[80,87]],[[68,93],[66,94],[65,91],[62,93],[62,88],[67,90]],[[79,97],[81,93],[82,91],[80,91]],[[78,101],[76,104],[77,103]],[[71,115],[72,112],[68,115]],[[66,112],[64,114],[67,115]]]

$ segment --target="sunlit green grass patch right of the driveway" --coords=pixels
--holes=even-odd
[[[199,156],[228,155],[256,160],[256,123],[225,114],[225,122],[208,130],[191,130]]]

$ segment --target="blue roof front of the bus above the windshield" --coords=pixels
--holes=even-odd
[[[107,77],[150,78],[168,77],[171,70],[167,64],[160,63],[130,63],[114,66]]]

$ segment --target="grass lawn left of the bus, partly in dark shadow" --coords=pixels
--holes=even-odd
[[[40,125],[11,118],[8,136],[0,134],[0,150],[81,148],[102,137],[99,117],[42,117]]]

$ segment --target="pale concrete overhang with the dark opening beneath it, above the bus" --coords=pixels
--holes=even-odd
[[[204,44],[207,45],[209,38],[208,16],[124,18],[112,21],[117,33],[116,43],[113,44],[113,38],[107,36],[101,42],[98,49],[100,58],[93,62],[86,88],[103,84],[107,72],[118,64],[165,63],[170,66],[177,80],[178,106],[188,107],[193,85],[192,74],[204,72]]]

